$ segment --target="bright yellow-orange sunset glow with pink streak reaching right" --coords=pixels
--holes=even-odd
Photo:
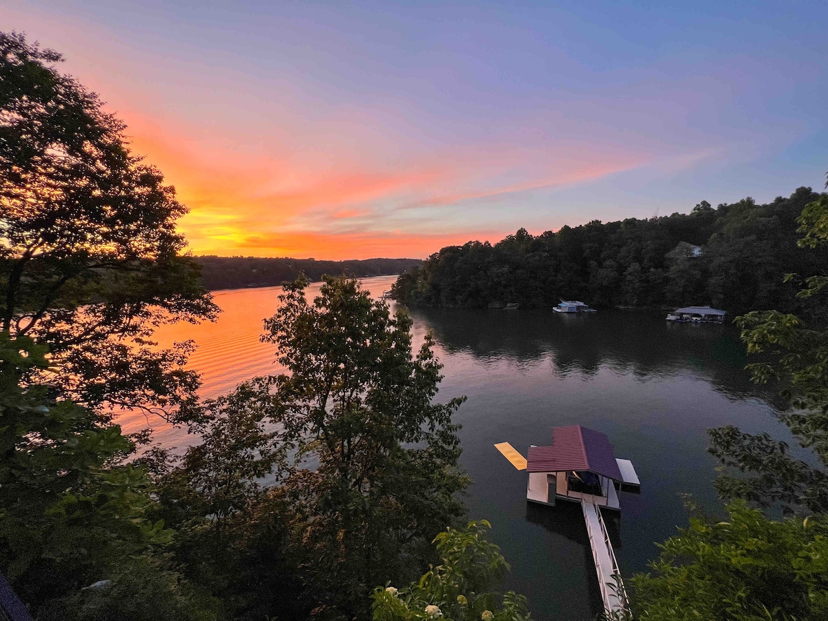
[[[287,158],[224,152],[142,113],[122,111],[120,116],[128,123],[133,150],[164,172],[190,208],[180,228],[195,254],[425,258],[469,239],[496,241],[519,224],[487,229],[469,221],[454,230],[407,230],[407,212],[439,212],[463,201],[575,184],[640,163],[632,156],[590,153],[580,161],[560,158],[551,171],[526,181],[479,189],[476,178],[498,171],[493,159],[520,161],[531,154],[510,155],[503,147],[476,155],[435,155],[392,171],[332,170],[312,161],[296,165]]]

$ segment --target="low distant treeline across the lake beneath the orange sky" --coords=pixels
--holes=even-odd
[[[351,277],[388,276],[401,274],[422,264],[420,259],[375,258],[363,261],[316,261],[312,258],[257,258],[257,257],[195,257],[201,266],[204,286],[216,289],[238,289],[243,286],[278,286],[292,281],[304,272],[313,281],[323,274]]]

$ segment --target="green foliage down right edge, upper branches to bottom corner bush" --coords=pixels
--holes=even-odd
[[[800,246],[828,245],[826,219],[821,195],[798,219]],[[710,430],[710,452],[724,469],[716,481],[723,498],[799,517],[774,521],[739,500],[729,505],[727,522],[692,518],[662,546],[654,571],[633,578],[637,619],[828,619],[828,330],[821,300],[828,275],[826,263],[817,267],[821,273],[807,277],[797,295],[811,305],[803,314],[737,318],[749,353],[764,358],[749,365],[753,380],[782,385],[792,407],[778,416],[816,459],[795,459],[767,433]],[[803,513],[811,515],[803,520]]]

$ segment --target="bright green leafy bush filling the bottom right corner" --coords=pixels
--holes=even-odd
[[[828,618],[828,522],[775,522],[744,503],[726,522],[692,517],[632,584],[633,618],[770,621]]]

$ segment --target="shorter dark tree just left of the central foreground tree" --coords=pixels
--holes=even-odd
[[[291,469],[267,423],[268,386],[252,380],[205,402],[190,424],[200,444],[179,460],[161,451],[147,460],[157,515],[176,528],[176,565],[221,602],[227,619],[302,619],[313,608],[296,561],[304,544],[290,538],[282,484]]]

